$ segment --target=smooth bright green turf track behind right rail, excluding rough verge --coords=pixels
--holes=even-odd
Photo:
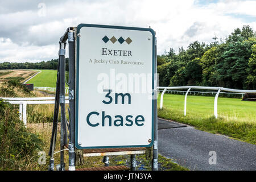
[[[160,105],[160,95],[158,106]],[[163,106],[184,114],[184,96],[164,94]],[[214,115],[214,97],[187,97],[187,116],[208,118]],[[256,102],[242,101],[242,98],[218,97],[218,116],[225,119],[256,123]]]

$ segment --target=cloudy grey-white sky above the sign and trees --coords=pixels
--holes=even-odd
[[[256,1],[0,0],[0,63],[56,59],[59,38],[80,23],[151,27],[158,54],[199,40],[225,39],[235,28],[256,30]]]

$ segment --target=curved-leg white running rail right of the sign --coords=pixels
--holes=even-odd
[[[218,117],[218,112],[217,112],[218,95],[221,93],[221,91],[232,92],[232,93],[242,93],[242,94],[256,93],[256,90],[238,90],[238,89],[229,89],[229,88],[224,88],[224,87],[211,87],[211,86],[158,86],[157,89],[158,90],[163,89],[163,92],[160,97],[160,109],[163,108],[163,96],[164,96],[164,93],[166,92],[166,90],[188,89],[185,94],[184,115],[186,115],[186,111],[187,111],[187,95],[191,89],[218,90],[218,92],[214,98],[214,116],[215,116],[215,118]]]

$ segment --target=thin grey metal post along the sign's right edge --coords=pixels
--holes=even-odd
[[[153,145],[153,159],[152,159],[152,171],[158,171],[158,99],[156,98],[156,78],[157,78],[157,51],[156,51],[156,38],[155,38],[155,85],[154,85],[154,145]]]

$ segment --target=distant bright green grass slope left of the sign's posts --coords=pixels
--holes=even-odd
[[[48,86],[56,87],[57,71],[56,70],[40,70],[34,78],[29,80],[28,84],[34,84],[34,86]]]

